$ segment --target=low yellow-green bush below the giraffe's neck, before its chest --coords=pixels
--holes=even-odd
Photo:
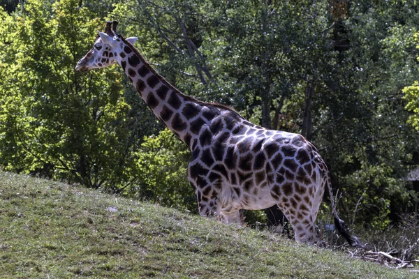
[[[186,176],[190,151],[170,130],[145,137],[135,155],[138,184],[128,188],[126,195],[198,213],[196,195]]]

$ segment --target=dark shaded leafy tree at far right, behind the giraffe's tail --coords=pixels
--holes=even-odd
[[[344,210],[357,206],[355,223],[385,227],[413,198],[403,177],[418,136],[404,124],[401,90],[418,74],[411,51],[417,13],[411,1],[361,2],[335,24],[339,56],[329,90],[313,107],[323,127],[315,143],[344,193]]]

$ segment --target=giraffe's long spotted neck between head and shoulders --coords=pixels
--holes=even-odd
[[[179,92],[145,61],[133,45],[126,40],[124,43],[124,51],[118,55],[126,76],[157,118],[191,146],[200,128],[221,113],[219,108]]]

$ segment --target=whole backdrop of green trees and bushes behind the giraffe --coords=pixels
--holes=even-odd
[[[197,211],[189,151],[167,131],[158,135],[161,123],[121,71],[73,70],[104,19],[115,19],[184,93],[309,137],[342,194],[343,218],[378,228],[397,221],[417,196],[404,179],[419,165],[416,1],[315,2],[8,6],[0,12],[1,166]]]

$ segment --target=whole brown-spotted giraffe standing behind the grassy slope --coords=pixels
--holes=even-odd
[[[187,174],[200,215],[240,223],[240,209],[277,204],[296,241],[318,243],[314,221],[328,187],[335,227],[351,246],[361,246],[337,215],[328,167],[313,144],[302,135],[256,126],[225,105],[184,95],[145,61],[133,46],[137,38],[117,33],[117,23],[106,23],[75,70],[122,66],[157,118],[189,146]]]

